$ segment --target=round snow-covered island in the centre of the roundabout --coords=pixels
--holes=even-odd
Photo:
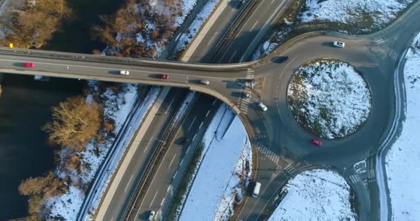
[[[294,119],[317,137],[335,139],[357,131],[371,106],[370,90],[350,64],[323,59],[298,68],[287,101]]]

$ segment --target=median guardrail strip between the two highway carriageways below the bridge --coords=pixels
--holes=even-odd
[[[191,104],[193,104],[196,99],[197,97],[193,99],[193,102],[191,102]],[[146,171],[144,171],[144,175],[142,176],[140,183],[135,189],[133,198],[130,200],[126,210],[124,211],[124,221],[135,220],[135,215],[140,209],[140,204],[142,203],[142,200],[146,195],[146,191],[149,190],[153,177],[155,176],[157,169],[159,168],[160,164],[162,163],[162,160],[164,159],[164,156],[166,155],[166,151],[168,151],[169,147],[171,146],[171,143],[175,139],[176,133],[178,133],[178,126],[180,126],[180,124],[184,122],[187,113],[191,109],[191,106],[192,105],[190,105],[188,110],[186,110],[186,114],[182,116],[182,119],[177,120],[175,119],[176,115],[173,115],[171,119],[171,124],[169,124],[168,128],[166,128],[166,133],[164,133],[164,137],[162,137],[162,141],[164,143],[160,142],[158,148],[156,148],[155,150],[155,153],[153,153],[153,157],[147,165]]]

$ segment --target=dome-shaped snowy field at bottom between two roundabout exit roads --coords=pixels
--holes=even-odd
[[[334,171],[299,173],[280,194],[285,196],[269,221],[357,220],[350,204],[350,186]]]

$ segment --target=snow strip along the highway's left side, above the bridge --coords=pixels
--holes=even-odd
[[[182,33],[178,36],[178,45],[176,46],[175,50],[180,51],[187,48],[191,40],[197,34],[198,30],[200,30],[201,26],[203,25],[204,21],[207,20],[211,12],[216,8],[220,0],[209,0],[207,4],[202,8],[200,13],[198,13],[197,17],[195,17],[191,26],[189,26],[189,30],[187,33]]]

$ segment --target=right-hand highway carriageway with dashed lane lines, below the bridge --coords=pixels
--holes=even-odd
[[[157,220],[162,220],[178,184],[182,181],[188,162],[201,143],[201,137],[219,106],[217,99],[209,95],[198,95],[197,102],[191,107],[190,114],[180,126],[174,142],[155,173],[151,188],[137,213],[140,220],[147,220],[151,210],[156,211]],[[184,143],[184,137],[188,137],[189,141]]]

